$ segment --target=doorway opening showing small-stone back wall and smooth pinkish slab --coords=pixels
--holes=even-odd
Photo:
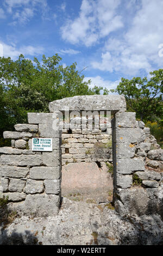
[[[76,121],[82,117],[75,117]],[[94,120],[94,118],[93,118]],[[107,118],[103,118],[103,123]],[[102,121],[102,120],[101,120]],[[79,124],[80,125],[80,124]],[[62,133],[61,195],[87,203],[112,202],[111,122],[104,129],[74,129]]]

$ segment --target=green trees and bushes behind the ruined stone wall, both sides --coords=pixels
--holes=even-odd
[[[17,60],[0,57],[0,147],[10,145],[3,139],[3,131],[14,130],[17,123],[27,123],[28,112],[48,112],[48,103],[75,95],[100,94],[102,87],[90,88],[77,63],[64,68],[61,57],[42,56],[41,62],[22,54]],[[151,77],[121,78],[115,90],[103,89],[103,94],[123,94],[127,111],[136,112],[136,118],[151,126],[151,132],[162,145],[163,123],[163,69],[150,72]],[[149,124],[148,122],[151,122]],[[153,125],[153,123],[156,123]],[[38,134],[39,136],[39,134]],[[111,148],[111,142],[99,145]]]

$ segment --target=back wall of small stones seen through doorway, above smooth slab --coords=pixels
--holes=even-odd
[[[78,123],[78,127],[62,131],[62,166],[73,162],[112,162],[111,120],[103,118],[103,123],[108,127],[105,130],[96,127],[89,129],[87,118],[85,129],[81,127],[82,117],[70,121]]]

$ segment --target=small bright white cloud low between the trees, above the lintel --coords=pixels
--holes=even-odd
[[[91,87],[102,86],[103,88],[107,88],[107,89],[115,89],[121,81],[121,80],[117,80],[112,82],[110,80],[104,80],[101,76],[84,77],[85,82],[87,82],[88,80],[91,80]]]

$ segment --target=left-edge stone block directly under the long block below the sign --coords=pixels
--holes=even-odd
[[[10,178],[26,178],[29,172],[27,167],[17,167],[17,166],[1,166],[0,176],[7,176]]]

